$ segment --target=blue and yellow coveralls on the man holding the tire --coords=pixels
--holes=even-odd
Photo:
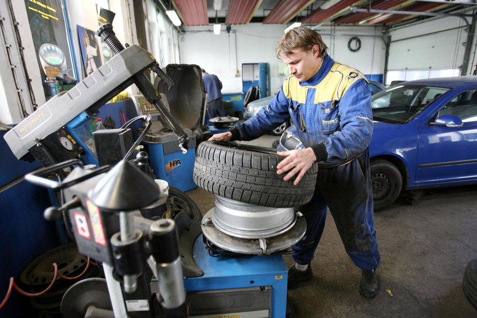
[[[298,264],[309,264],[323,233],[328,208],[346,252],[366,270],[380,264],[373,217],[369,142],[373,132],[371,90],[356,69],[328,54],[307,81],[290,76],[268,107],[237,124],[232,140],[251,140],[291,119],[305,147],[318,161],[313,198],[297,209],[305,216],[305,236],[292,248]]]

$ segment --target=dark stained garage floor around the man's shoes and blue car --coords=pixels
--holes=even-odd
[[[263,136],[248,143],[270,147],[275,139]],[[414,205],[398,199],[375,213],[382,264],[380,292],[370,300],[359,295],[361,272],[328,214],[312,262],[313,280],[288,292],[293,317],[477,317],[462,292],[465,267],[477,258],[474,188],[426,192]],[[209,192],[197,188],[187,194],[202,213],[213,207]],[[287,267],[294,264],[290,256],[284,259]]]

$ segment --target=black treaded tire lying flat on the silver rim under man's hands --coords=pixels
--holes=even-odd
[[[283,181],[277,149],[204,141],[197,147],[194,181],[228,199],[268,207],[296,207],[313,196],[318,173],[314,163],[298,185]]]

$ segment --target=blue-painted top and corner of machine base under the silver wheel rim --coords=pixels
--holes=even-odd
[[[240,288],[270,286],[272,296],[269,313],[265,317],[285,317],[288,276],[281,255],[210,256],[204,247],[202,235],[194,244],[193,255],[204,275],[185,278],[187,292],[236,289],[239,293]],[[225,314],[237,313],[211,312],[207,317],[222,317]]]

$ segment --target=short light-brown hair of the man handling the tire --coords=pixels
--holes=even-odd
[[[328,47],[323,40],[321,40],[321,36],[312,29],[298,26],[285,33],[278,41],[275,51],[277,58],[280,59],[282,54],[285,56],[289,55],[294,49],[309,51],[315,44],[318,45],[320,50],[318,56],[322,58],[328,50]]]

